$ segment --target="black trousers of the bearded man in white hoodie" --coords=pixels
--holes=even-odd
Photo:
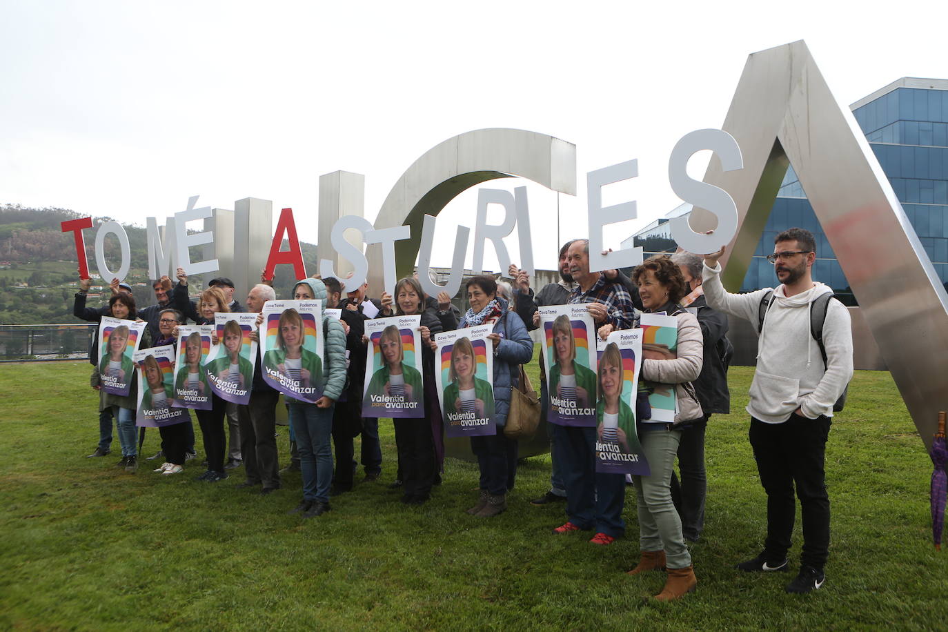
[[[830,496],[824,460],[829,436],[829,417],[807,419],[793,414],[783,424],[751,419],[751,446],[760,484],[767,492],[764,551],[769,561],[783,560],[790,551],[795,485],[803,520],[800,563],[816,569],[826,564],[830,552]]]

